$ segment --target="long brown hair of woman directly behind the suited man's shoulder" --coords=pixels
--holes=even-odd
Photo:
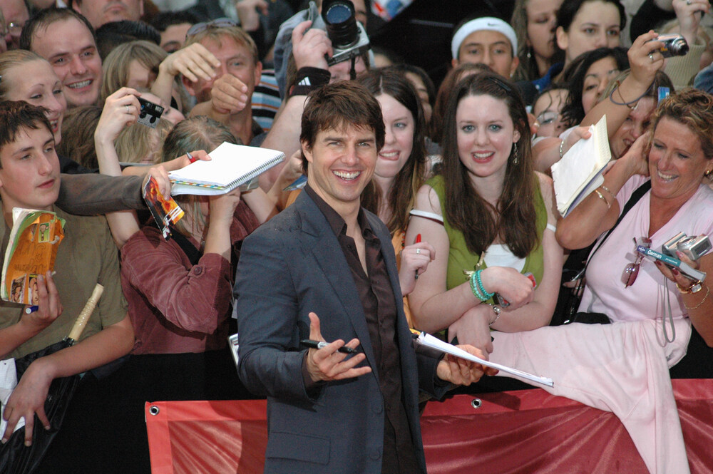
[[[426,177],[424,110],[421,108],[419,95],[411,81],[404,73],[393,68],[371,70],[359,76],[356,81],[369,89],[374,97],[381,94],[393,97],[414,117],[414,143],[411,156],[404,163],[404,168],[401,168],[394,177],[388,196],[391,217],[389,222],[386,222],[386,227],[389,227],[389,232],[393,235],[394,232],[406,229],[409,223],[409,211],[414,207],[414,197]],[[376,182],[371,180],[361,193],[361,205],[374,214],[379,213],[379,205],[381,205],[381,192],[377,187]]]

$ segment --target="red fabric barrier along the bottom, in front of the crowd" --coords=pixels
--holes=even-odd
[[[691,472],[711,473],[713,380],[673,386]],[[265,410],[264,400],[147,403],[153,474],[262,473]],[[615,416],[540,389],[431,402],[421,430],[431,474],[647,472]]]

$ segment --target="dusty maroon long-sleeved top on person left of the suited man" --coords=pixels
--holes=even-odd
[[[233,244],[257,226],[240,201],[230,227]],[[225,347],[232,277],[230,262],[220,255],[205,254],[191,265],[175,240],[165,241],[153,223],[142,227],[121,249],[121,286],[136,336],[133,354]]]

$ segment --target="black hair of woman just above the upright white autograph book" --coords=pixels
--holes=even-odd
[[[587,76],[589,68],[604,58],[613,58],[617,63],[617,69],[624,71],[629,68],[629,58],[626,49],[620,46],[616,48],[597,48],[587,51],[577,56],[567,66],[563,73],[563,83],[567,84],[568,94],[565,105],[562,108],[562,121],[568,127],[579,125],[584,120],[584,108],[582,105],[582,88],[584,78]]]

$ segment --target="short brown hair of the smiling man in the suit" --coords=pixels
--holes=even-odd
[[[343,130],[347,127],[374,130],[376,150],[384,146],[384,119],[381,106],[365,86],[354,81],[327,84],[309,93],[302,112],[302,132],[299,141],[312,148],[317,133]],[[302,169],[307,170],[307,158],[302,153]]]

